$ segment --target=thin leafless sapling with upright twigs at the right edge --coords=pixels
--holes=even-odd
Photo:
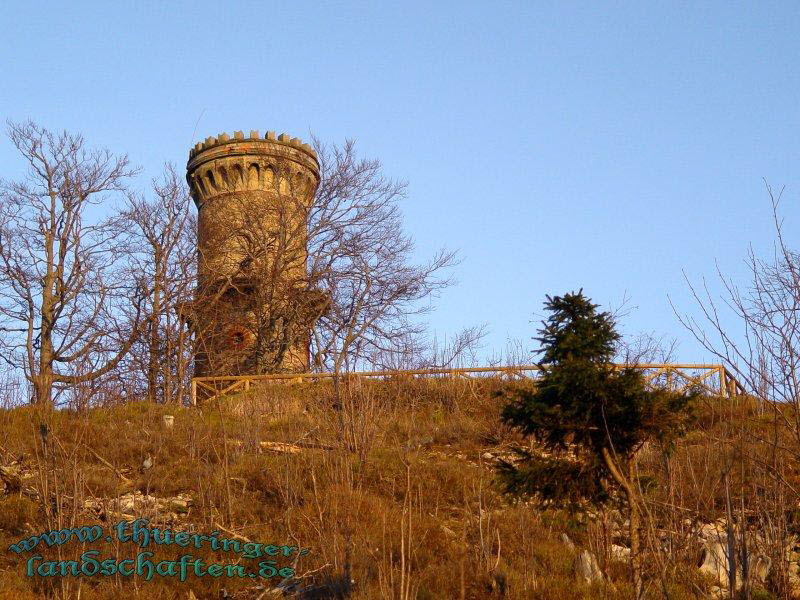
[[[698,288],[687,278],[702,318],[680,314],[674,305],[673,310],[698,342],[735,373],[756,403],[753,421],[749,422],[734,419],[734,405],[729,406],[731,427],[734,423],[736,427],[733,439],[740,453],[736,466],[742,470],[752,468],[760,474],[759,484],[752,487],[771,501],[753,502],[757,494],[748,489],[749,482],[740,482],[740,532],[735,535],[730,507],[732,492],[728,483],[734,463],[722,471],[721,481],[725,483],[728,502],[730,587],[733,589],[736,581],[737,559],[743,585],[745,588],[750,585],[748,556],[751,550],[748,548],[756,539],[748,539],[746,515],[749,515],[765,524],[762,542],[766,542],[776,568],[774,583],[785,594],[788,585],[786,548],[792,539],[787,527],[789,506],[800,499],[800,489],[787,470],[787,464],[800,460],[800,253],[789,247],[783,233],[778,213],[782,192],[776,194],[769,185],[766,188],[775,229],[773,256],[759,258],[750,247],[746,260],[750,281],[746,287],[724,276],[718,266],[717,275],[725,290],[719,299],[711,294],[705,281],[702,288]],[[734,325],[741,327],[740,335],[732,333]],[[748,406],[746,398],[740,402]],[[793,497],[794,502],[787,502],[787,497]]]

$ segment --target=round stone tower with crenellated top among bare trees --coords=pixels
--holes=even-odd
[[[195,375],[307,371],[324,298],[306,275],[313,148],[286,134],[222,133],[189,152],[197,205]]]

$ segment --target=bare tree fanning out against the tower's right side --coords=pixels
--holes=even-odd
[[[425,301],[452,284],[455,252],[412,264],[398,205],[406,185],[385,177],[378,160],[359,159],[352,141],[314,146],[322,180],[309,211],[308,269],[330,306],[313,330],[313,365],[339,372],[408,354],[425,331]]]

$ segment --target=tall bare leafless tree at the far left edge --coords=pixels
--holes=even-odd
[[[124,248],[112,220],[90,221],[92,207],[125,194],[136,172],[126,156],[88,150],[83,138],[32,122],[9,123],[28,165],[0,185],[0,318],[14,368],[34,401],[52,404],[54,388],[101,377],[130,349],[138,328],[140,282],[119,275]],[[120,309],[133,306],[133,329]]]

